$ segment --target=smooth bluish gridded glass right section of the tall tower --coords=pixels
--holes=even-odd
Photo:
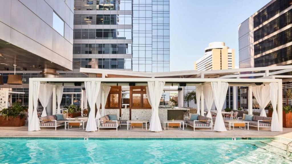
[[[133,0],[133,71],[169,71],[169,0]]]

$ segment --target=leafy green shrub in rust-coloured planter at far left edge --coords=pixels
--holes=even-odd
[[[13,103],[11,108],[0,111],[0,126],[19,127],[25,125],[24,108],[18,102]]]

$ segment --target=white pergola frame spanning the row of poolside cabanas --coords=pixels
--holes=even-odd
[[[279,67],[284,67],[281,69],[288,69],[286,68],[286,66],[279,66]],[[265,67],[267,68],[267,67]],[[289,66],[289,69],[291,69],[292,67]],[[279,68],[277,68],[279,69]],[[84,69],[83,69],[84,70]],[[92,70],[92,69],[90,69]],[[275,69],[270,69],[270,70],[275,70]],[[83,72],[82,70],[80,70],[81,72]],[[95,71],[95,72],[94,72]],[[127,71],[112,71],[112,70],[103,70],[103,69],[99,69],[98,71],[108,71],[110,73],[108,74],[121,74],[121,73],[127,73]],[[217,72],[220,71],[226,71],[226,70],[216,70],[213,71],[214,74],[217,74]],[[243,69],[242,71],[246,71],[245,69]],[[258,71],[258,70],[256,70]],[[291,71],[291,70],[289,70]],[[193,72],[193,71],[191,71]],[[206,71],[206,72],[212,72],[212,71]],[[33,82],[35,81],[39,81],[39,82],[44,82],[44,83],[50,83],[50,84],[55,84],[55,85],[62,85],[62,83],[72,83],[72,82],[84,82],[84,81],[100,81],[102,83],[108,84],[108,85],[112,85],[113,83],[129,83],[129,82],[135,82],[135,83],[145,83],[145,85],[147,85],[148,81],[165,81],[166,82],[166,86],[167,85],[171,85],[171,83],[188,83],[189,85],[192,86],[202,86],[205,84],[209,84],[211,82],[217,82],[217,81],[221,81],[221,82],[227,82],[230,85],[229,86],[255,86],[255,83],[278,83],[279,85],[279,90],[278,90],[278,104],[277,107],[278,109],[282,109],[282,79],[277,79],[277,78],[202,78],[202,75],[204,76],[204,74],[206,72],[200,72],[201,73],[201,78],[155,78],[153,76],[151,77],[143,77],[143,78],[105,78],[105,74],[103,74],[102,78],[30,78],[29,79],[29,109],[28,109],[28,113],[29,113],[29,120],[28,120],[28,124],[30,125],[30,119],[32,118],[32,111],[33,111],[33,99],[32,99],[32,94],[33,94]],[[88,73],[97,73],[96,69],[93,69],[92,72],[88,72]],[[129,74],[132,74],[131,76],[137,76],[138,73],[133,73],[133,72],[128,72]],[[183,72],[180,72],[183,74]],[[128,76],[130,76],[128,74]],[[135,74],[135,75],[134,75]],[[142,74],[149,74],[149,73],[141,73]],[[155,74],[155,73],[154,73]],[[159,74],[163,74],[163,73],[159,73]],[[178,72],[175,73],[166,73],[163,76],[174,76],[174,74],[179,74]],[[159,75],[159,76],[161,76]],[[143,75],[142,75],[143,76]],[[148,76],[148,75],[147,75]],[[56,107],[56,87],[54,87],[53,89],[53,109],[55,109]],[[103,93],[104,94],[104,93]],[[251,114],[252,113],[252,93],[248,93],[248,97],[249,97],[249,110],[248,113]],[[201,93],[201,104],[204,104],[204,94]],[[202,105],[201,107],[201,113],[204,112],[204,105]],[[283,121],[283,116],[282,116],[282,112],[279,111],[278,112],[278,117],[279,117],[279,128],[281,129],[281,131],[283,130],[283,126],[282,126],[282,121]],[[30,127],[30,126],[29,126]]]

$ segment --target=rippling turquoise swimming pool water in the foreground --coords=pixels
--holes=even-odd
[[[292,163],[265,146],[260,140],[0,139],[0,163]]]

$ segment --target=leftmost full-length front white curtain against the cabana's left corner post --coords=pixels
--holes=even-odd
[[[32,90],[32,99],[33,99],[33,105],[34,109],[32,112],[32,115],[29,115],[30,118],[30,124],[28,127],[28,131],[38,131],[40,130],[39,127],[39,118],[37,117],[37,108],[39,106],[38,100],[39,100],[39,81],[33,82],[33,90]]]

